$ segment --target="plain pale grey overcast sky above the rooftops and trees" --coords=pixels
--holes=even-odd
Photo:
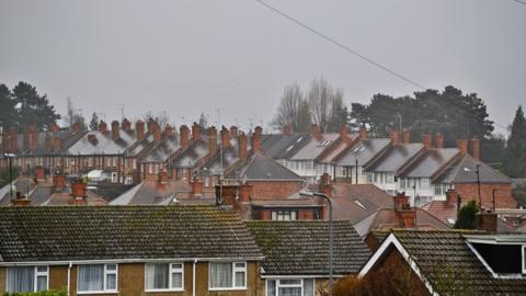
[[[526,105],[526,4],[265,1],[426,88],[477,92],[500,124]],[[121,118],[124,103],[130,118],[214,123],[220,109],[226,124],[267,127],[284,86],[320,76],[347,105],[418,90],[255,1],[0,0],[0,82],[27,81],[59,112],[70,96],[87,119]]]

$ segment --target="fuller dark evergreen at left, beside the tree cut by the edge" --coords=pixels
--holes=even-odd
[[[49,104],[47,95],[39,95],[36,88],[26,82],[19,82],[13,89],[13,98],[18,109],[19,124],[27,126],[35,124],[39,129],[49,128],[60,114],[55,111],[55,106]]]

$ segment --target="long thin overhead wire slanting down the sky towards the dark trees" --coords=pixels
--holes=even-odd
[[[398,72],[395,71],[395,70],[389,69],[387,66],[384,66],[384,65],[381,65],[380,62],[375,61],[375,60],[373,60],[371,58],[368,58],[367,56],[365,56],[365,55],[363,55],[363,54],[361,54],[361,53],[358,53],[358,52],[350,48],[348,46],[346,46],[346,45],[344,45],[344,44],[342,44],[342,43],[340,43],[340,42],[338,42],[338,41],[335,41],[335,39],[327,36],[325,34],[321,33],[320,31],[318,31],[318,30],[316,30],[316,29],[313,29],[313,27],[311,27],[311,26],[309,26],[309,25],[307,25],[307,24],[305,24],[305,23],[302,23],[302,22],[294,19],[293,16],[290,16],[290,15],[286,14],[285,12],[278,10],[278,9],[276,9],[276,8],[274,8],[274,7],[272,7],[271,4],[268,4],[268,3],[266,3],[266,2],[264,2],[264,1],[262,1],[262,0],[255,0],[255,1],[256,1],[258,3],[264,5],[265,8],[274,11],[275,13],[282,15],[283,18],[288,19],[289,21],[296,23],[297,25],[306,29],[306,30],[309,31],[310,33],[313,33],[313,34],[318,35],[319,37],[322,37],[323,39],[325,39],[325,41],[328,41],[328,42],[336,45],[338,47],[342,48],[343,50],[345,50],[345,52],[347,52],[347,53],[351,53],[351,54],[359,57],[361,59],[363,59],[363,60],[365,60],[365,61],[367,61],[367,62],[369,62],[369,64],[371,64],[371,65],[374,65],[374,66],[376,66],[376,67],[378,67],[378,68],[380,68],[380,69],[382,69],[382,70],[385,70],[385,71],[387,71],[387,72],[389,72],[390,75],[392,75],[392,76],[395,76],[395,77],[397,77],[397,78],[399,78],[399,79],[401,79],[401,80],[403,80],[403,81],[405,81],[405,82],[408,82],[408,83],[410,83],[410,84],[412,84],[412,86],[414,86],[414,87],[416,87],[416,88],[419,88],[419,89],[423,89],[423,90],[426,89],[426,88],[424,88],[422,84],[416,83],[415,81],[409,79],[408,77],[405,77],[405,76],[403,76],[403,75],[401,75],[401,73],[398,73]]]

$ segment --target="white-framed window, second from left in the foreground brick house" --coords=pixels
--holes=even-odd
[[[79,265],[79,292],[116,292],[117,264]]]

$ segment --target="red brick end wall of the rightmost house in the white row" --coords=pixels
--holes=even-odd
[[[455,190],[462,197],[462,203],[474,200],[479,203],[477,183],[455,184]],[[512,184],[480,184],[482,207],[492,208],[492,194],[495,192],[495,206],[498,208],[515,208],[516,202],[512,197]]]

